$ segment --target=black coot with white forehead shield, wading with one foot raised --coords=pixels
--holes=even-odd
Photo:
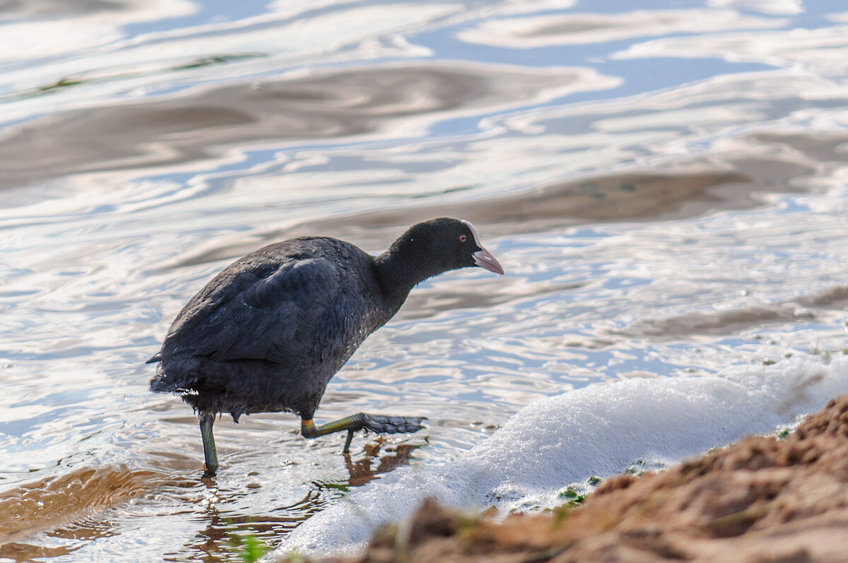
[[[315,426],[330,378],[365,337],[398,312],[419,281],[478,265],[503,275],[466,220],[411,226],[379,256],[329,237],[276,242],[237,259],[195,295],[170,326],[150,389],[178,393],[200,419],[206,474],[218,469],[212,424],[256,412],[296,413],[304,438],[415,432],[421,418],[359,413]]]

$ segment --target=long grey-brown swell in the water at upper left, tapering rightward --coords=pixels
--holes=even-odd
[[[419,115],[427,115],[428,122],[456,119],[614,83],[579,69],[404,64],[224,86],[184,100],[65,112],[21,125],[0,141],[0,159],[8,161],[0,187],[83,170],[190,162],[224,153],[233,144],[337,139],[388,129],[411,133],[421,128],[414,119]]]

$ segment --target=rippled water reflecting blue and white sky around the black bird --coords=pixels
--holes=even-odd
[[[0,555],[237,560],[534,399],[845,348],[845,6],[638,4],[0,2]],[[143,364],[181,305],[438,215],[507,276],[421,284],[318,411],[427,430],[222,419],[202,481]]]

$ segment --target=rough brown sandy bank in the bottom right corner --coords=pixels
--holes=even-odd
[[[334,563],[848,560],[848,395],[785,439],[746,438],[674,469],[613,477],[577,509],[503,523],[435,504]]]

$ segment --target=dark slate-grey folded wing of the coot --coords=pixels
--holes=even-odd
[[[222,271],[177,316],[165,345],[217,361],[299,363],[314,354],[354,305],[349,271],[324,257],[274,266]]]

